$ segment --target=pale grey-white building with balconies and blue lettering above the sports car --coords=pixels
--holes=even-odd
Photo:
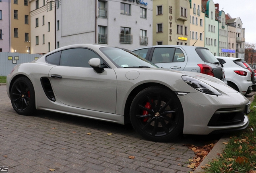
[[[152,45],[153,0],[59,0],[56,48],[109,44],[127,49]]]

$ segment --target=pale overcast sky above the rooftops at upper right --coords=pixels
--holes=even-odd
[[[256,0],[213,0],[219,10],[232,18],[240,17],[245,28],[245,41],[256,44]]]

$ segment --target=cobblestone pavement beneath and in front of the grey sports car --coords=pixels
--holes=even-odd
[[[9,173],[187,173],[183,142],[142,139],[130,125],[38,111],[18,115],[0,86],[0,166]],[[87,135],[91,133],[91,135]],[[109,135],[111,133],[112,135]],[[134,159],[129,159],[134,156]]]

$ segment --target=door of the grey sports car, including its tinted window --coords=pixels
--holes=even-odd
[[[97,73],[88,64],[91,58],[100,57],[87,48],[62,50],[60,65],[49,72],[54,93],[68,106],[115,113],[116,73],[106,65],[104,72]],[[101,64],[104,66],[102,59]]]

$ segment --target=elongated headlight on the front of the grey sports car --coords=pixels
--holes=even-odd
[[[182,76],[182,79],[190,85],[190,87],[193,87],[197,91],[200,91],[205,94],[209,95],[221,95],[219,91],[211,87],[209,84],[206,84],[202,82],[201,80],[198,80],[196,78],[192,78],[190,76]]]

